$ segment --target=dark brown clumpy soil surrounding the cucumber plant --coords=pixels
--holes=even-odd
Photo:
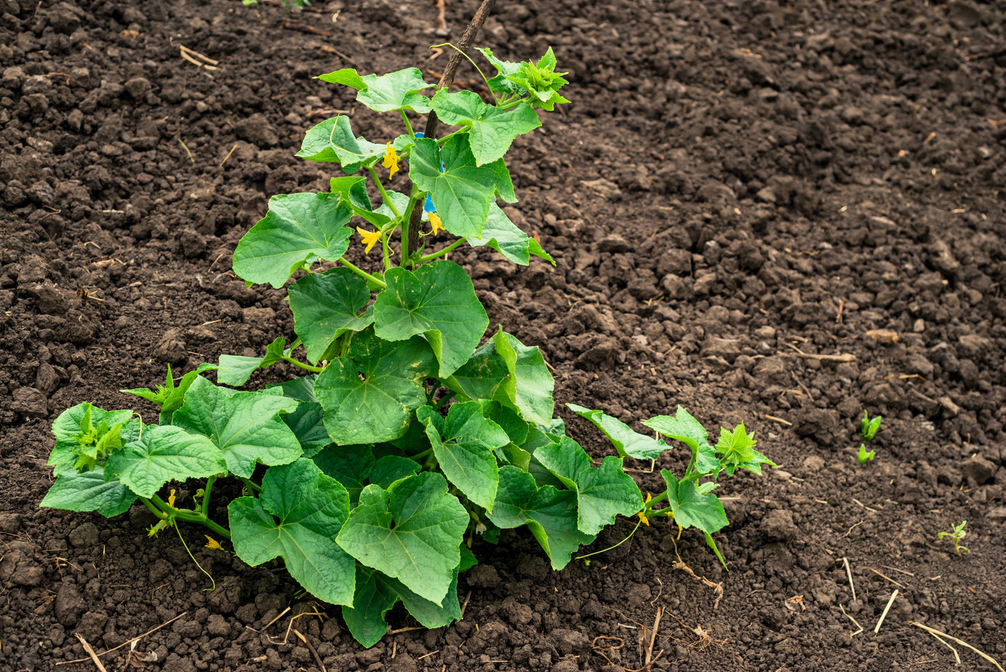
[[[183,613],[139,641],[137,669],[312,669],[291,630],[305,611],[321,616],[293,627],[328,670],[636,670],[658,609],[655,670],[952,669],[913,621],[1006,663],[1002,1],[530,0],[486,24],[498,55],[551,44],[570,72],[573,102],[511,160],[511,216],[557,268],[454,259],[493,326],[542,346],[558,401],[629,423],[680,403],[756,432],[782,468],[720,487],[729,572],[661,523],[561,572],[517,531],[475,548],[463,621],[409,629],[398,608],[405,630],[363,650],[282,564],[185,529],[208,592],[142,510],[38,508],[59,411],[153,416],[116,390],[292,333],[282,293],[245,288],[230,253],[270,195],[327,184],[293,158],[306,129],[335,110],[391,128],[311,77],[422,62],[435,80],[447,55],[428,45],[476,6],[449,3],[445,36],[433,2],[0,0],[0,669],[95,669],[54,667],[85,655],[74,633],[101,652]],[[860,467],[864,408],[884,421]],[[937,533],[964,519],[959,561]]]

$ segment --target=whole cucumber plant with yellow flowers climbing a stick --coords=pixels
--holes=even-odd
[[[772,464],[742,425],[712,446],[683,408],[647,421],[691,458],[681,478],[661,472],[667,489],[644,501],[623,461],[655,460],[667,444],[570,406],[617,449],[595,466],[555,416],[539,349],[502,329],[483,342],[489,318],[447,257],[467,244],[524,266],[532,256],[552,261],[497,200],[516,200],[503,161],[513,140],[567,101],[551,49],[520,63],[481,51],[496,69],[486,80],[492,104],[467,91],[428,96],[433,85],[416,68],[321,75],[398,117],[403,131],[371,142],[346,116],[309,130],[298,156],[344,174],[323,193],[274,196],[237,244],[237,276],[286,287],[296,337],[278,337],[262,357],[223,355],[177,383],[169,369],[156,389],[124,390],[160,405],[154,425],[90,403],[64,411],[52,426],[56,479],[42,506],[114,516],[139,501],[159,520],[152,532],[198,523],[213,535],[208,545],[229,540],[250,565],[282,557],[305,590],[342,606],[364,646],[384,635],[399,601],[430,628],[460,618],[458,575],[476,562],[472,540],[496,542],[502,529],[527,527],[561,569],[618,515],[673,517],[701,530],[722,560],[711,537],[727,524],[715,479]],[[413,132],[409,115],[431,112],[455,130]],[[427,224],[410,251],[418,210]],[[346,259],[350,244],[379,253],[363,269]],[[281,361],[303,375],[234,389]],[[202,375],[210,369],[216,384]],[[222,478],[243,491],[225,526],[210,516]],[[161,496],[187,479],[206,479],[191,507]]]

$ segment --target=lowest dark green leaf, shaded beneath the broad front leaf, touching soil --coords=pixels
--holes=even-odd
[[[365,647],[373,646],[380,641],[387,632],[384,615],[399,601],[412,618],[426,628],[450,625],[461,618],[461,605],[458,602],[458,570],[455,569],[454,579],[442,607],[415,595],[396,578],[376,569],[357,565],[353,607],[342,608],[342,617],[346,620],[346,626],[353,639]]]

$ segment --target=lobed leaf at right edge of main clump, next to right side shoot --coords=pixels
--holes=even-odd
[[[576,493],[576,526],[597,534],[615,522],[615,516],[634,516],[643,509],[643,497],[632,477],[622,471],[622,458],[609,456],[600,467],[572,439],[539,448],[534,457],[556,478]]]

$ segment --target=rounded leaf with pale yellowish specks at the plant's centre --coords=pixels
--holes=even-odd
[[[354,334],[346,356],[330,362],[315,382],[332,441],[372,444],[405,434],[412,411],[427,401],[434,366],[433,351],[418,336],[392,343],[371,328]]]

